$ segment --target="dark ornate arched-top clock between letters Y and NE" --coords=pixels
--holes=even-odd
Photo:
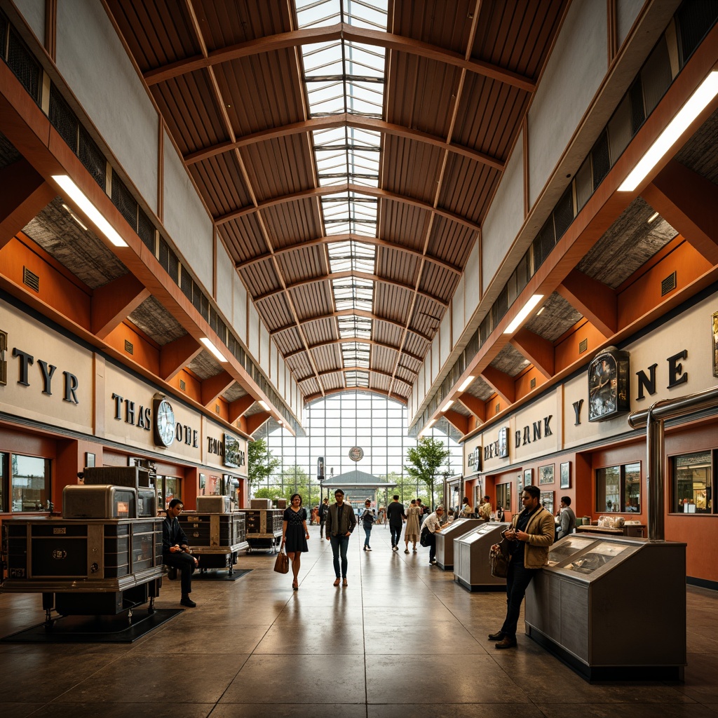
[[[589,421],[604,421],[630,411],[629,358],[628,352],[610,347],[589,364]]]

